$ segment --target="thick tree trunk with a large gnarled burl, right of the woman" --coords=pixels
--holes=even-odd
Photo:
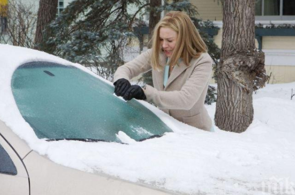
[[[255,49],[255,0],[223,1],[215,124],[243,132],[253,120],[253,91],[265,85],[264,53]]]

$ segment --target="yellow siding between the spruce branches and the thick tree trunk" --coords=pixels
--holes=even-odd
[[[221,0],[191,0],[191,3],[197,7],[199,15],[197,18],[202,20],[222,20]]]

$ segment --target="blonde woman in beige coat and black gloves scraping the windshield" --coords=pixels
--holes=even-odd
[[[212,131],[204,101],[212,72],[207,47],[188,15],[169,12],[156,26],[152,49],[119,67],[115,94],[125,100],[146,99],[178,121]],[[165,66],[166,65],[166,66]],[[128,80],[152,69],[154,87]]]

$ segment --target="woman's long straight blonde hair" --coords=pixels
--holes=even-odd
[[[178,34],[170,65],[176,65],[179,58],[182,58],[184,63],[189,66],[192,58],[198,58],[201,53],[207,51],[207,46],[190,17],[180,11],[171,11],[156,24],[153,31],[151,63],[154,69],[161,68],[159,60],[159,53],[163,51],[159,37],[161,27],[171,28]]]

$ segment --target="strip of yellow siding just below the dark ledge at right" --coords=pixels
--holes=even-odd
[[[295,49],[295,36],[262,37],[262,49]]]

